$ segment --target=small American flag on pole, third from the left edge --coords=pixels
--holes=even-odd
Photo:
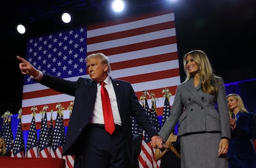
[[[38,158],[38,138],[37,130],[35,126],[35,111],[37,108],[34,106],[32,108],[32,121],[29,128],[28,140],[27,140],[27,158]]]

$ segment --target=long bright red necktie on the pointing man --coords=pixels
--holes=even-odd
[[[112,109],[110,105],[110,100],[108,96],[108,91],[105,88],[105,82],[101,82],[101,103],[103,108],[103,116],[104,116],[104,122],[105,122],[105,130],[109,134],[113,134],[114,132],[114,119],[112,114]]]

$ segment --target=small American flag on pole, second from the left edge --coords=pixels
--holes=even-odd
[[[23,138],[21,118],[22,118],[22,114],[21,114],[21,110],[20,110],[19,115],[18,115],[19,124],[17,127],[16,137],[15,137],[15,141],[14,141],[14,148],[13,148],[13,153],[12,153],[12,157],[14,157],[14,158],[24,158],[25,157],[25,143],[24,143],[24,138]]]

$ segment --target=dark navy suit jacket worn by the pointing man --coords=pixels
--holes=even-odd
[[[127,151],[129,151],[130,161],[132,156],[132,123],[130,116],[134,116],[150,138],[158,135],[158,132],[150,123],[145,113],[145,109],[140,105],[134,89],[127,81],[112,79],[114,91],[116,92],[117,105],[122,121],[122,130],[126,140]],[[63,155],[81,154],[83,146],[83,135],[86,135],[85,127],[90,123],[95,105],[97,85],[89,78],[79,78],[77,81],[67,81],[44,73],[43,78],[38,81],[40,84],[48,86],[67,95],[75,97],[72,115],[67,129],[66,142],[64,144]],[[84,131],[85,130],[85,131]],[[83,132],[83,134],[82,134]]]

